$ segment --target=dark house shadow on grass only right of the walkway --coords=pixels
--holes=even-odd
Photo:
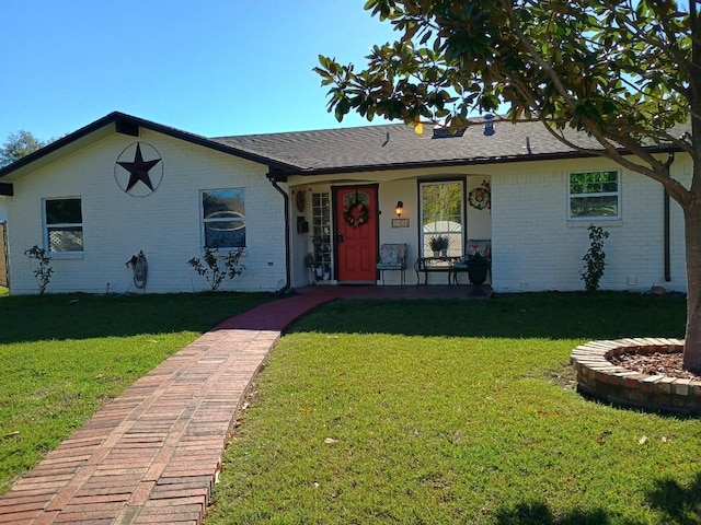
[[[683,296],[632,293],[524,293],[489,301],[342,300],[289,331],[405,336],[613,339],[683,337]]]

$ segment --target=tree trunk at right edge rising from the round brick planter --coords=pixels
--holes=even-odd
[[[683,369],[701,373],[701,202],[683,207],[687,244],[687,336]]]

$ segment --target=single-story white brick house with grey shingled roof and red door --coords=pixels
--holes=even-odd
[[[677,154],[671,173],[689,183],[691,159]],[[589,224],[610,234],[602,289],[686,290],[681,210],[662,186],[539,122],[205,138],[112,113],[0,170],[0,195],[13,294],[37,292],[33,246],[50,256],[47,293],[206,290],[187,264],[205,247],[241,252],[226,290],[380,284],[388,243],[407,246],[411,285],[436,235],[449,257],[489,246],[495,292],[574,291]],[[140,253],[146,282],[127,265]]]

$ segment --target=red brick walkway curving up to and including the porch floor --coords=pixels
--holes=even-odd
[[[233,417],[285,327],[340,296],[466,298],[469,288],[317,287],[232,317],[50,452],[0,497],[0,523],[200,523]]]

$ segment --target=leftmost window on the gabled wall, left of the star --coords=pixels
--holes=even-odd
[[[83,250],[81,199],[44,200],[44,245],[53,254]]]

